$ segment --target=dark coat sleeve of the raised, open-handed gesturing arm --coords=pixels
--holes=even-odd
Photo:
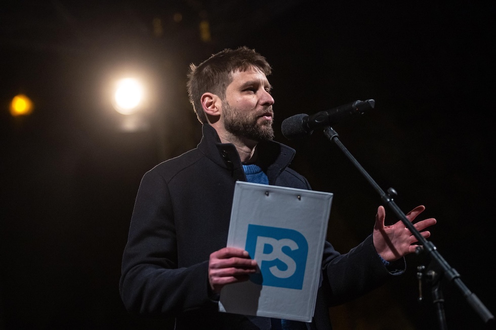
[[[339,254],[326,242],[322,287],[327,304],[334,306],[358,298],[402,273],[405,267],[404,258],[387,267],[374,247],[372,235],[346,254]]]

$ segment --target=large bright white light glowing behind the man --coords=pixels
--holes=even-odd
[[[137,111],[143,98],[143,87],[133,78],[125,78],[117,83],[114,94],[114,108],[123,115],[130,115]]]

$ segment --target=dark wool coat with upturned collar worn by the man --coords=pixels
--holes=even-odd
[[[295,150],[264,142],[257,151],[269,184],[310,189],[305,177],[287,167]],[[175,316],[177,329],[270,325],[268,318],[219,312],[217,297],[210,291],[209,257],[226,246],[236,180],[246,178],[235,147],[222,144],[206,124],[196,149],[143,176],[120,279],[120,295],[130,312]],[[329,306],[377,288],[391,276],[371,237],[346,254],[326,242],[322,274],[314,320],[308,323],[319,330],[331,328]]]

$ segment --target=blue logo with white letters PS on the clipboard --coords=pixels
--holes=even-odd
[[[250,276],[252,282],[270,287],[302,289],[308,243],[300,232],[249,224],[245,250],[260,266],[260,273]]]

